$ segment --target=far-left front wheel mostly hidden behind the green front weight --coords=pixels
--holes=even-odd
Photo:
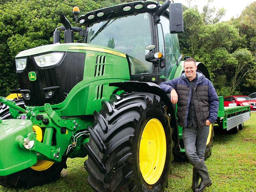
[[[14,99],[16,105],[24,108],[23,99]],[[9,113],[9,106],[0,103],[0,119],[12,119]],[[67,157],[62,157],[60,163],[38,160],[35,165],[22,171],[0,176],[0,185],[9,188],[31,188],[33,186],[44,185],[60,178],[60,172],[67,168]]]

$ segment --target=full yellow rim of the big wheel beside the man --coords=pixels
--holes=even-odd
[[[139,151],[140,172],[149,184],[155,184],[162,175],[166,158],[164,127],[158,119],[150,119],[141,138]]]

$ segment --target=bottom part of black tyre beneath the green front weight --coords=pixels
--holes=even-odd
[[[9,188],[31,188],[56,181],[60,178],[60,172],[67,168],[67,157],[62,157],[60,163],[54,163],[48,169],[36,171],[31,168],[7,175],[0,176],[0,185]]]

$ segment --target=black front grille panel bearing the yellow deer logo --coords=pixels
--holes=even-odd
[[[25,71],[17,72],[21,90],[29,90],[27,106],[43,106],[45,103],[57,104],[65,100],[70,90],[83,80],[84,53],[66,52],[57,66],[38,68],[32,56],[28,57]],[[36,81],[30,81],[28,73],[36,72]],[[55,87],[51,98],[45,97],[45,88]],[[24,98],[24,95],[23,95]]]

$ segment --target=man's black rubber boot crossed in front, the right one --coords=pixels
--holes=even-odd
[[[194,192],[203,192],[206,187],[210,187],[212,185],[212,180],[210,180],[209,173],[207,167],[204,163],[204,160],[194,165],[197,174],[201,178],[201,182],[198,187],[194,188]]]

